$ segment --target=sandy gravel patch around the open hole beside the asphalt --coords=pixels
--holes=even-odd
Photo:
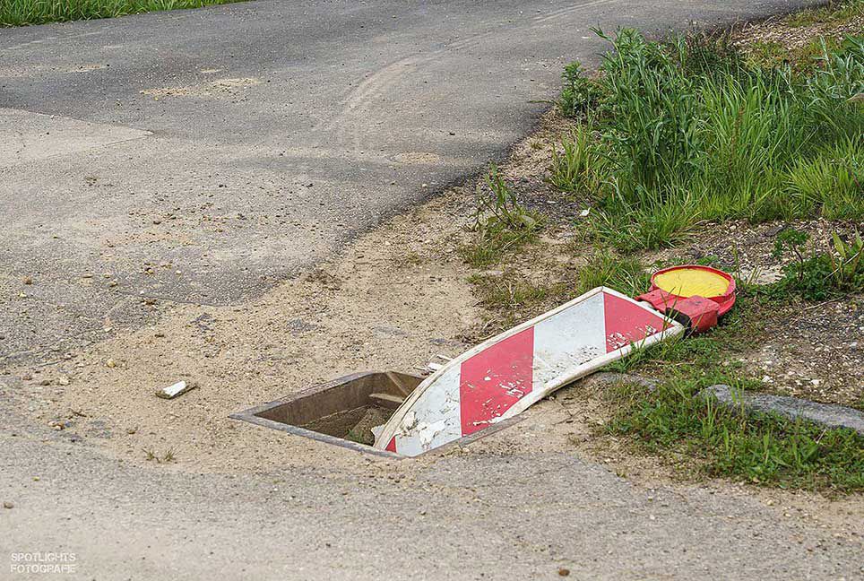
[[[394,219],[338,262],[260,299],[162,306],[157,325],[119,333],[61,364],[16,370],[30,377],[34,420],[124,457],[172,450],[177,464],[195,470],[333,455],[228,415],[358,370],[417,373],[438,353],[466,349],[459,330],[476,322],[478,309],[455,253],[462,212],[454,195]],[[198,388],[172,401],[154,396],[180,379]]]

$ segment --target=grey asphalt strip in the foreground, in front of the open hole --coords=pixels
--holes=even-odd
[[[0,579],[864,577],[860,537],[746,490],[648,489],[574,454],[483,446],[542,422],[532,411],[466,454],[402,465],[333,447],[320,464],[188,473],[22,429],[0,397],[0,496],[14,499]],[[22,553],[75,568],[28,575]]]

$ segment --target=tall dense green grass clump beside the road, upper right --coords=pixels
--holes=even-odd
[[[753,65],[722,38],[603,38],[598,77],[565,73],[562,109],[585,124],[551,174],[592,195],[602,238],[634,249],[700,221],[864,218],[864,107],[849,102],[864,91],[864,36],[822,45],[806,73]]]

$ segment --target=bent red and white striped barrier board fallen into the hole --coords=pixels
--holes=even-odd
[[[599,287],[489,339],[421,383],[375,447],[419,455],[528,409],[558,388],[684,327]]]

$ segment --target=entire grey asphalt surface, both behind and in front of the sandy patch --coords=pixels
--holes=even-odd
[[[590,26],[801,4],[261,1],[0,30],[0,365],[332,256],[502,156],[562,65],[596,62]],[[860,542],[748,495],[648,491],[572,454],[457,455],[402,480],[342,456],[187,473],[70,443],[20,405],[0,386],[0,579],[862,574]],[[15,571],[39,551],[74,552],[76,572]]]

